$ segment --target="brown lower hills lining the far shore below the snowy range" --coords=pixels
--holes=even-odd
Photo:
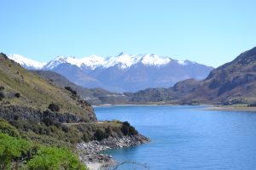
[[[61,65],[64,69],[65,65],[69,64],[62,63]],[[72,87],[92,105],[152,103],[254,105],[256,103],[256,47],[241,53],[233,61],[213,69],[202,80],[189,78],[169,88],[146,88],[136,93],[119,94],[102,88],[79,87],[60,74],[44,71],[43,67],[41,69],[41,71],[36,71],[41,77],[48,81],[52,80],[62,88]]]

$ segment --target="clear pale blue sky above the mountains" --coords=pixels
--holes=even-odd
[[[218,66],[256,46],[256,1],[2,0],[0,51],[49,61],[160,54]]]

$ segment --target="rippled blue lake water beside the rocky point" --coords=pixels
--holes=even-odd
[[[119,162],[149,169],[256,169],[256,112],[204,106],[96,107],[98,120],[128,121],[148,144],[108,150]],[[145,169],[124,164],[119,169]]]

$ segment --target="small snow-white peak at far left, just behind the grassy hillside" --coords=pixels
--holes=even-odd
[[[17,63],[29,70],[40,70],[46,63],[40,63],[38,61],[27,59],[20,54],[10,54],[9,59],[15,60]]]

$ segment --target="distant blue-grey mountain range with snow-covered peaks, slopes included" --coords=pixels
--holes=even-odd
[[[9,55],[29,70],[55,71],[84,88],[104,88],[113,92],[136,92],[144,88],[168,88],[176,82],[201,80],[212,67],[189,60],[156,54],[125,54],[113,57],[91,55],[82,59],[59,56],[48,63]]]

